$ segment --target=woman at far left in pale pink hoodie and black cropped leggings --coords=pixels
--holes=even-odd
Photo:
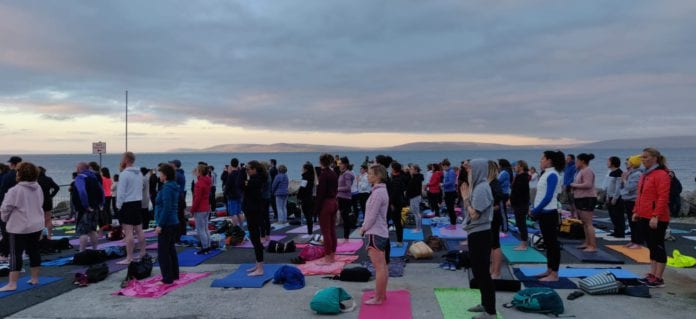
[[[39,240],[44,229],[43,191],[36,180],[39,170],[34,164],[24,162],[17,166],[17,185],[11,188],[2,202],[0,215],[7,223],[10,243],[10,276],[0,291],[17,290],[22,255],[29,255],[30,285],[39,283],[41,254]]]

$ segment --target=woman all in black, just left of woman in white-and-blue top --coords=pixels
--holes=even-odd
[[[512,180],[510,190],[510,206],[515,212],[515,224],[520,232],[520,244],[515,250],[527,250],[527,215],[529,214],[529,174],[527,162],[517,161],[515,164],[515,178]]]

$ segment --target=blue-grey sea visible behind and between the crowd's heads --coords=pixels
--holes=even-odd
[[[663,154],[667,157],[668,166],[675,171],[677,177],[680,179],[684,191],[696,190],[696,149],[664,149]],[[485,158],[497,160],[500,158],[508,159],[511,162],[517,160],[525,160],[530,167],[534,166],[539,168],[539,160],[541,158],[543,150],[540,149],[515,149],[515,150],[453,150],[453,151],[390,151],[379,152],[379,151],[350,151],[350,152],[334,152],[332,154],[339,154],[341,156],[347,156],[351,163],[355,165],[354,171],[357,173],[359,171],[360,164],[364,161],[365,157],[369,157],[370,160],[378,154],[390,155],[397,161],[403,164],[415,163],[419,164],[423,171],[425,171],[425,166],[428,163],[440,162],[447,158],[453,165],[457,165],[462,160],[474,159],[474,158]],[[586,150],[576,150],[573,149],[570,153],[579,154],[581,152],[587,152]],[[607,175],[607,159],[610,156],[618,156],[624,159],[628,156],[635,155],[639,153],[639,150],[628,150],[628,149],[602,149],[593,151],[595,155],[595,160],[590,163],[590,166],[595,171],[596,174],[596,185],[597,187],[602,187],[605,181],[605,176]],[[29,161],[34,164],[43,166],[46,168],[46,174],[52,177],[56,183],[63,185],[61,191],[56,197],[56,201],[67,200],[67,186],[72,181],[72,172],[75,171],[75,166],[78,162],[99,162],[99,155],[85,155],[85,154],[6,154],[0,155],[0,159],[9,159],[11,155],[19,155],[24,161]],[[215,167],[215,172],[219,174],[225,167],[225,164],[229,164],[233,157],[239,159],[240,162],[248,162],[251,160],[268,161],[270,159],[275,159],[278,164],[283,164],[288,167],[288,177],[292,179],[300,179],[302,173],[302,165],[310,161],[314,166],[318,166],[320,153],[316,152],[298,152],[298,153],[136,153],[136,166],[155,168],[159,163],[169,162],[174,159],[178,159],[182,162],[182,168],[186,172],[186,180],[190,183],[192,178],[192,170],[194,166],[199,162],[203,161],[209,165]],[[111,170],[111,174],[118,173],[118,164],[120,161],[120,154],[104,154],[101,158],[102,167],[108,167]],[[218,187],[220,186],[218,180]],[[218,188],[219,190],[219,188]],[[190,201],[190,192],[188,194]]]

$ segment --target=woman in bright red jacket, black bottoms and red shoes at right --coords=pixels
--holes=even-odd
[[[650,272],[640,281],[649,287],[662,288],[665,282],[667,253],[665,231],[669,225],[670,179],[665,157],[654,148],[643,150],[645,173],[638,182],[638,197],[633,208],[633,221],[638,222],[650,249]]]

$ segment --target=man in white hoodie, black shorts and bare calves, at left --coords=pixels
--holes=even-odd
[[[121,225],[126,235],[126,259],[118,262],[122,265],[133,261],[134,239],[138,237],[140,257],[145,256],[145,234],[143,233],[143,174],[135,167],[135,154],[125,152],[121,157],[121,175],[118,183],[116,207],[121,210]]]

